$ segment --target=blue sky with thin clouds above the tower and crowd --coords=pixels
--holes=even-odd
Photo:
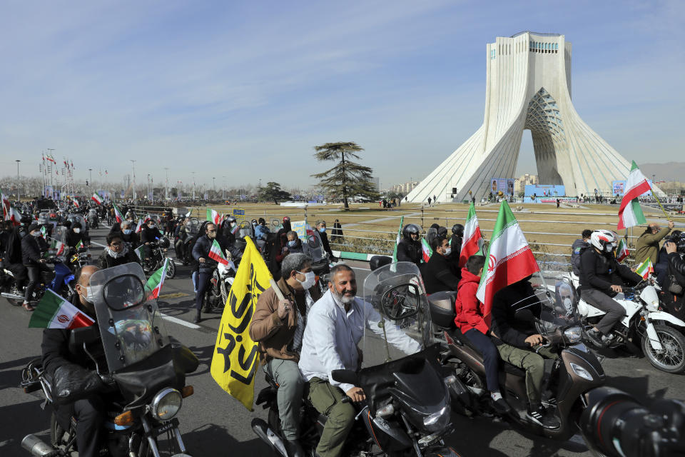
[[[572,42],[574,106],[617,151],[679,161],[684,25],[682,1],[4,1],[0,175],[54,148],[77,179],[305,188],[313,146],[356,141],[381,186],[422,179],[482,124],[485,45],[523,30]]]

